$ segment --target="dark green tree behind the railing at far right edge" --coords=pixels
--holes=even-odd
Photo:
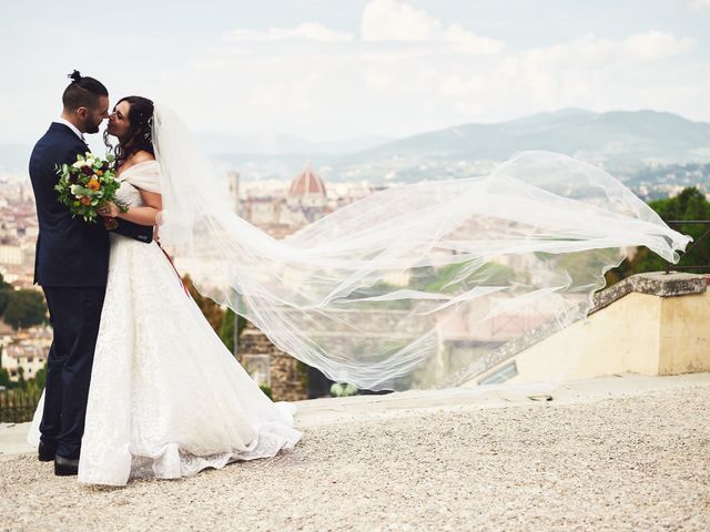
[[[658,213],[665,221],[671,219],[710,219],[710,202],[694,186],[684,188],[679,195],[656,200],[649,206]],[[676,231],[693,237],[697,242],[710,227],[698,224],[680,224],[673,226]],[[688,247],[692,245],[689,244]],[[615,284],[630,275],[645,272],[663,272],[666,260],[656,255],[647,247],[639,247],[636,255],[621,263],[618,268],[607,273],[608,284]],[[690,253],[682,255],[680,266],[702,266],[710,264],[710,238],[706,238],[697,245]]]

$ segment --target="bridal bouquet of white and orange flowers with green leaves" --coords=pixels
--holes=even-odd
[[[109,202],[115,203],[115,194],[121,182],[115,178],[113,155],[105,160],[99,158],[91,152],[77,155],[74,164],[57,166],[59,182],[54,190],[59,192],[59,202],[65,205],[72,216],[81,216],[84,222],[97,223],[99,209]],[[119,205],[121,212],[125,207]],[[115,218],[101,216],[106,229],[118,227]]]

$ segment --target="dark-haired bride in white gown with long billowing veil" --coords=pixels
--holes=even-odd
[[[130,208],[106,214],[158,225],[202,294],[359,388],[456,386],[506,355],[510,324],[524,336],[584,318],[627,249],[676,262],[689,242],[602,170],[549,152],[392,187],[278,242],[233,212],[169,109],[123,99],[109,134]],[[475,341],[443,350],[452,328]],[[292,415],[222,345],[158,244],[112,236],[80,481],[272,457],[302,436]]]

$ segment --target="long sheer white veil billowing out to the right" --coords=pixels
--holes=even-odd
[[[153,143],[161,243],[197,289],[364,389],[456,385],[506,342],[584,318],[627,247],[676,262],[690,241],[608,173],[549,152],[385,190],[276,241],[234,212],[164,105]]]

